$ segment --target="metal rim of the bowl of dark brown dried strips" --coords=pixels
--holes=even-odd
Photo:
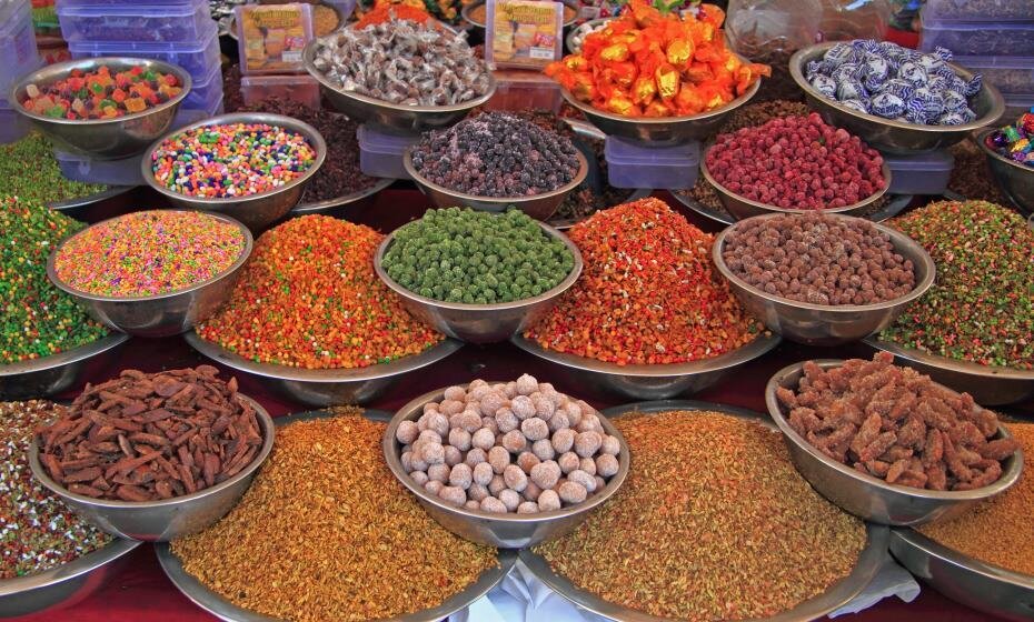
[[[70,492],[61,484],[53,481],[43,469],[43,465],[39,460],[39,444],[37,443],[36,439],[32,439],[32,443],[29,445],[29,468],[32,470],[32,475],[36,478],[36,480],[58,496],[71,500],[76,503],[89,505],[91,508],[100,508],[106,510],[153,510],[159,508],[181,505],[191,501],[199,501],[206,496],[211,496],[225,491],[228,488],[232,488],[239,484],[242,480],[251,476],[259,469],[259,466],[266,462],[266,459],[269,458],[269,452],[272,451],[274,437],[276,433],[274,431],[275,427],[272,424],[272,418],[269,415],[269,412],[267,412],[266,409],[262,408],[262,405],[255,399],[249,398],[242,393],[238,393],[238,395],[249,402],[251,408],[255,409],[256,419],[258,419],[259,427],[262,429],[264,438],[261,449],[258,453],[255,454],[255,458],[251,459],[251,462],[241,469],[239,473],[205,490],[199,490],[182,496],[173,496],[172,499],[162,499],[159,501],[115,501],[111,499],[93,499],[92,496],[76,494],[74,492]]]

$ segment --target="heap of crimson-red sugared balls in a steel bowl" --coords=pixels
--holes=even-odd
[[[729,192],[783,209],[844,208],[887,185],[879,152],[815,112],[719,134],[705,159]]]

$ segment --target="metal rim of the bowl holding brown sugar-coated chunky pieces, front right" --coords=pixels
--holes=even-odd
[[[995,480],[993,483],[974,489],[974,490],[962,490],[962,491],[937,491],[937,490],[927,490],[918,489],[911,486],[903,486],[896,484],[888,484],[887,482],[874,478],[873,475],[862,473],[846,464],[842,464],[823,452],[815,449],[812,443],[798,434],[793,428],[791,428],[789,422],[786,420],[786,417],[783,414],[783,405],[778,402],[776,398],[776,389],[782,387],[781,380],[791,375],[793,373],[804,372],[804,363],[808,361],[802,361],[799,363],[794,363],[792,365],[786,365],[768,380],[768,383],[765,385],[765,404],[768,407],[768,414],[772,415],[773,421],[776,425],[779,427],[779,430],[783,432],[783,438],[797,445],[798,448],[806,451],[812,458],[822,462],[823,466],[827,469],[833,469],[837,471],[841,475],[846,475],[854,480],[855,482],[868,486],[876,488],[883,493],[895,494],[904,498],[911,499],[922,499],[929,501],[982,501],[990,499],[998,493],[1005,492],[1008,490],[1016,481],[1020,479],[1020,474],[1023,471],[1023,450],[1017,449],[1010,458],[1004,462],[1002,468],[1002,475]],[[817,364],[819,368],[835,369],[844,364],[843,359],[815,359],[811,362]],[[958,394],[956,391],[952,391],[947,387],[934,383],[951,391],[952,393]],[[983,408],[983,407],[980,407]],[[1012,434],[1008,433],[1008,429],[1005,428],[1002,422],[998,422],[998,437],[1001,439],[1011,439]]]

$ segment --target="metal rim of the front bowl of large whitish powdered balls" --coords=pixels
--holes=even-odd
[[[460,384],[460,387],[468,385],[469,383]],[[614,493],[616,493],[622,484],[625,483],[625,479],[628,476],[628,471],[632,465],[632,452],[628,449],[628,443],[625,441],[625,437],[622,435],[620,431],[618,431],[618,429],[615,428],[606,417],[599,417],[598,419],[600,424],[604,427],[604,431],[606,431],[607,434],[617,438],[617,441],[620,444],[622,449],[618,457],[618,471],[614,474],[613,478],[610,478],[610,481],[607,482],[607,485],[604,486],[601,491],[594,492],[581,503],[549,512],[539,512],[536,514],[517,514],[514,512],[501,514],[485,512],[483,510],[468,510],[466,508],[457,508],[456,505],[446,503],[438,496],[428,493],[426,490],[424,490],[424,486],[416,485],[412,482],[412,478],[410,478],[409,474],[402,470],[401,458],[396,448],[396,443],[398,443],[398,441],[395,438],[395,433],[402,421],[414,421],[417,419],[421,413],[420,408],[428,402],[441,400],[446,389],[448,389],[448,387],[428,391],[427,393],[415,398],[414,400],[409,401],[409,403],[400,408],[388,423],[388,428],[385,430],[384,440],[381,442],[385,462],[387,463],[388,469],[391,471],[391,474],[394,474],[395,479],[398,480],[399,483],[401,483],[404,486],[406,486],[409,492],[415,494],[421,503],[434,505],[435,508],[448,512],[449,514],[458,514],[464,519],[481,519],[507,524],[536,524],[555,519],[565,519],[590,512],[614,496]]]

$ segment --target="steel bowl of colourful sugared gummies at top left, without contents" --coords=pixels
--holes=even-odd
[[[122,71],[133,67],[171,73],[183,86],[182,91],[169,101],[148,108],[142,112],[115,119],[53,119],[30,112],[21,106],[28,99],[29,84],[52,84],[67,78],[76,69],[93,71],[101,66]],[[192,81],[182,68],[159,60],[128,57],[102,57],[70,60],[50,64],[24,76],[14,82],[7,96],[11,107],[23,114],[43,136],[64,151],[89,156],[98,160],[120,160],[140,154],[156,138],[169,131],[180,103],[190,92]]]

